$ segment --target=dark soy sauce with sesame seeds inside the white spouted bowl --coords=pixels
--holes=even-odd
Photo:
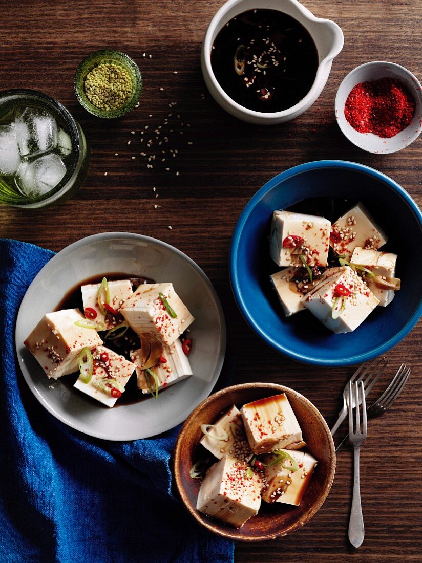
[[[309,92],[318,52],[299,21],[278,10],[248,10],[217,34],[211,66],[221,88],[243,107],[274,113]]]

